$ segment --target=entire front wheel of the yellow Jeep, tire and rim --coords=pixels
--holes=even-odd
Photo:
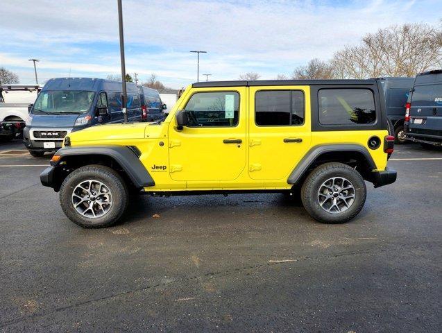
[[[128,205],[128,189],[119,174],[102,165],[73,171],[60,187],[63,212],[83,228],[114,225]]]

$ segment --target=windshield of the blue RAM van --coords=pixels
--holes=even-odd
[[[94,92],[58,90],[40,92],[35,101],[34,114],[80,114],[90,110]]]

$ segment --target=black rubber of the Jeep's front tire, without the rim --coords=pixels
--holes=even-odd
[[[82,182],[98,180],[108,187],[112,196],[112,205],[108,212],[99,217],[87,217],[77,212],[72,193]],[[128,189],[119,174],[102,165],[87,165],[69,173],[60,187],[60,204],[63,212],[74,223],[83,228],[105,228],[117,223],[128,205]],[[98,200],[99,196],[97,196]],[[92,212],[92,211],[91,211]]]

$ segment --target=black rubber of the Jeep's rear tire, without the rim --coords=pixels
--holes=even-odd
[[[349,201],[350,204],[348,208],[342,205],[343,200],[337,198],[337,200],[340,200],[341,202],[341,208],[346,210],[343,212],[334,213],[326,212],[319,203],[318,191],[323,188],[322,185],[324,182],[335,177],[345,178],[351,183],[353,189],[350,191],[352,191],[355,198],[353,201]],[[334,187],[334,189],[337,188],[338,187]],[[348,194],[349,191],[344,193]],[[334,196],[334,192],[330,194]],[[357,214],[359,214],[362,207],[364,207],[366,195],[367,189],[365,182],[359,172],[352,167],[349,167],[347,164],[337,162],[325,163],[321,164],[319,167],[316,167],[316,169],[309,173],[309,176],[307,176],[303,183],[303,187],[301,187],[301,200],[303,201],[305,210],[307,210],[310,216],[322,223],[346,223],[350,221]],[[323,197],[325,198],[325,196]],[[331,203],[334,203],[334,198],[330,199],[332,200]],[[325,203],[325,200],[323,203]],[[340,209],[337,207],[334,208],[334,210]]]

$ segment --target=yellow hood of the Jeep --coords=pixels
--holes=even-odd
[[[112,123],[96,125],[71,132],[71,142],[144,139],[144,129],[147,123]]]

